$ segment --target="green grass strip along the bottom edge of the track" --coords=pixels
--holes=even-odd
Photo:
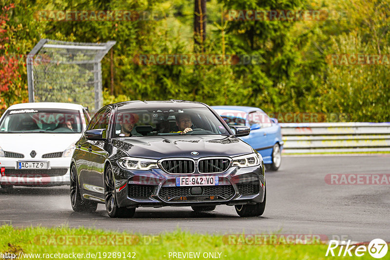
[[[131,221],[131,220],[129,220]],[[114,226],[113,226],[114,228]],[[27,227],[16,228],[11,225],[0,226],[0,252],[13,253],[19,255],[23,253],[40,253],[40,254],[84,254],[82,258],[68,259],[88,259],[85,257],[87,253],[100,252],[101,259],[103,253],[135,252],[135,257],[138,260],[160,260],[160,259],[174,259],[169,258],[169,252],[200,252],[200,258],[205,252],[220,252],[222,260],[320,260],[329,259],[332,257],[325,257],[327,250],[326,244],[317,245],[229,245],[226,243],[226,237],[219,235],[202,235],[194,234],[188,231],[176,230],[174,232],[162,233],[155,235],[154,244],[142,245],[44,245],[53,241],[43,241],[40,244],[40,236],[57,236],[58,240],[61,235],[131,235],[129,233],[118,233],[111,231],[103,231],[98,229],[87,228],[69,228],[69,227]],[[140,234],[136,234],[141,236]],[[142,239],[141,239],[142,240]],[[62,243],[62,240],[58,240]],[[133,240],[132,243],[137,243],[138,240]],[[149,241],[149,240],[148,240]],[[122,243],[122,242],[119,242]],[[132,254],[134,256],[134,254]],[[217,254],[218,256],[218,254]],[[334,259],[355,259],[357,257],[333,257]],[[34,259],[34,258],[24,258]],[[41,258],[42,259],[42,258]],[[47,258],[46,258],[47,259]],[[62,258],[66,259],[66,258]],[[91,258],[90,258],[91,259]],[[97,257],[99,259],[99,257]],[[113,258],[111,256],[110,259]],[[123,255],[120,259],[124,259]],[[129,258],[125,258],[129,259]],[[187,258],[189,259],[189,258]],[[372,259],[368,253],[359,259]]]

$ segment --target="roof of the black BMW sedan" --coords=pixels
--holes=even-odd
[[[207,108],[207,105],[201,102],[186,100],[162,100],[162,101],[125,101],[116,103],[118,110],[124,109],[149,109],[149,108]]]

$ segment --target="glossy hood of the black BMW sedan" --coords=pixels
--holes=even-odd
[[[253,152],[251,146],[232,136],[144,136],[116,138],[113,145],[130,156],[141,158],[235,156]],[[197,152],[192,155],[191,152]]]

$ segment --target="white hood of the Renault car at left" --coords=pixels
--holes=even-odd
[[[35,159],[45,153],[61,152],[76,142],[81,133],[1,133],[0,147],[4,151],[24,154],[24,158],[31,158],[34,150]]]

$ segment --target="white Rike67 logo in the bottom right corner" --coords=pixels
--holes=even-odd
[[[328,250],[326,251],[325,256],[327,257],[329,253],[331,253],[330,255],[332,257],[334,256],[345,257],[347,255],[351,257],[353,254],[357,257],[362,257],[364,256],[364,254],[366,254],[366,252],[369,252],[371,257],[379,259],[386,256],[388,250],[388,245],[386,241],[382,239],[374,239],[368,244],[368,246],[362,244],[351,245],[351,240],[347,242],[345,248],[344,245],[340,245],[340,249],[337,249],[338,246],[339,246],[339,241],[330,240],[328,245]]]

